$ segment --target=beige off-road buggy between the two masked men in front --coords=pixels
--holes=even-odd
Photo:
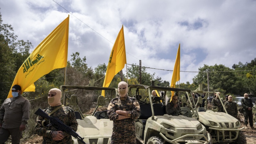
[[[117,89],[96,86],[62,85],[60,86],[60,90],[62,91],[61,103],[67,106],[73,106],[76,109],[75,115],[78,123],[76,133],[84,138],[84,142],[86,144],[109,144],[113,131],[113,121],[109,120],[107,110],[97,111],[97,109],[102,106],[107,107],[110,100],[117,96]],[[91,115],[84,115],[78,106],[77,96],[74,93],[95,93],[95,91],[98,91],[97,93],[101,94],[101,90],[105,90],[105,93],[107,93],[106,96],[98,96],[93,113]],[[73,144],[78,144],[77,139],[73,137],[72,141]]]

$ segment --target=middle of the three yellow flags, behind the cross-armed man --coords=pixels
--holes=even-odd
[[[108,68],[104,79],[103,87],[108,87],[114,76],[124,68],[126,64],[126,53],[124,44],[124,26],[122,26],[108,60]],[[105,97],[105,91],[101,95]]]

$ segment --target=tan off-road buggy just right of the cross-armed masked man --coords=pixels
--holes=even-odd
[[[166,93],[174,91],[176,95],[187,94],[189,98],[192,95],[191,90],[145,85],[129,85],[128,87],[129,96],[135,97],[140,104],[140,117],[135,123],[137,143],[212,143],[206,128],[197,121],[196,109],[190,111],[188,107],[183,107],[177,112],[178,116],[168,115],[165,112]],[[157,96],[151,98],[152,90],[164,92],[164,98]],[[186,101],[186,98],[183,101]],[[195,105],[193,99],[189,102]]]

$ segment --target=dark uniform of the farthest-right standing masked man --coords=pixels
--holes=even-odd
[[[244,110],[244,124],[248,124],[248,118],[249,118],[249,123],[250,126],[253,126],[253,115],[252,115],[252,109],[248,110],[248,108],[252,108],[253,104],[252,104],[252,100],[250,99],[242,99],[241,100],[241,104],[243,106],[243,110]]]

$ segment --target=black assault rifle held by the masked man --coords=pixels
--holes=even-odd
[[[74,130],[72,130],[69,126],[62,123],[58,118],[51,117],[48,114],[46,114],[41,108],[38,108],[38,110],[35,112],[36,115],[47,118],[52,124],[56,124],[59,128],[58,131],[64,131],[68,134],[72,135],[74,138],[78,140],[79,144],[86,144],[82,137],[80,137]]]

